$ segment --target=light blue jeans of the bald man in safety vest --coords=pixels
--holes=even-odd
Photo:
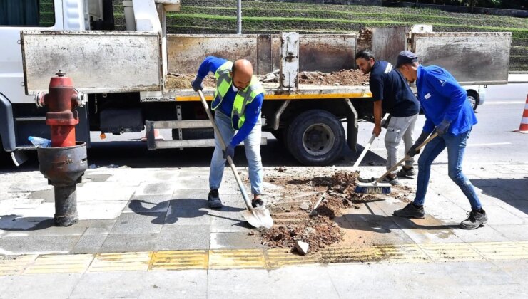
[[[220,110],[215,112],[215,122],[218,126],[218,130],[228,145],[235,135],[235,130],[231,126],[231,118],[225,115]],[[262,159],[260,158],[260,137],[262,136],[262,123],[260,122],[260,116],[258,122],[253,127],[253,130],[249,133],[248,137],[244,140],[245,158],[248,159],[249,167],[249,182],[251,185],[251,193],[262,194]],[[213,158],[210,161],[210,172],[209,172],[209,188],[218,189],[222,182],[223,170],[225,168],[225,159],[223,158],[223,149],[218,140],[218,136],[215,132],[215,152],[213,152]]]

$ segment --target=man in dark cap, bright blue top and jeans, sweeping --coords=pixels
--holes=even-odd
[[[435,65],[422,66],[418,57],[410,51],[398,55],[396,67],[410,82],[416,82],[418,100],[425,114],[422,134],[411,147],[410,156],[418,154],[416,150],[435,130],[438,136],[424,147],[418,159],[418,179],[415,200],[405,208],[394,211],[395,216],[423,218],[423,204],[429,184],[431,164],[447,148],[447,167],[450,178],[469,199],[471,211],[469,217],[460,223],[462,229],[477,229],[487,222],[486,211],[482,209],[474,187],[462,173],[462,159],[469,133],[477,124],[471,105],[467,101],[467,92],[447,70]]]

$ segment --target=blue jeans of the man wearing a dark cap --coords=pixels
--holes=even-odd
[[[459,135],[445,133],[442,136],[433,138],[427,143],[418,159],[418,182],[414,201],[415,204],[424,204],[427,185],[429,184],[429,177],[431,174],[431,164],[447,147],[447,169],[450,178],[458,185],[458,187],[460,187],[467,199],[469,199],[469,204],[471,204],[472,209],[482,208],[479,198],[474,192],[473,185],[462,173],[462,159],[464,157],[464,150],[466,149],[467,138],[469,138],[470,132],[471,130],[460,133]]]

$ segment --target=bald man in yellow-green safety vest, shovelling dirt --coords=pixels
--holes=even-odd
[[[264,100],[264,88],[253,75],[253,65],[245,59],[234,63],[223,58],[208,56],[198,68],[196,79],[191,85],[195,91],[203,89],[203,78],[214,73],[217,80],[216,92],[211,109],[215,122],[226,142],[221,147],[215,133],[215,151],[210,162],[208,206],[221,208],[222,201],[218,188],[222,182],[225,159],[235,156],[235,147],[244,142],[245,157],[248,159],[249,180],[253,193],[253,207],[264,204],[262,194],[263,169],[260,158],[262,124],[260,109]]]

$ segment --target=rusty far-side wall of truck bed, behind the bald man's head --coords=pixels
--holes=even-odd
[[[299,71],[330,73],[355,68],[356,34],[300,34]],[[253,63],[255,73],[265,75],[279,68],[280,36],[256,34],[167,36],[170,73],[196,73],[206,56]]]

